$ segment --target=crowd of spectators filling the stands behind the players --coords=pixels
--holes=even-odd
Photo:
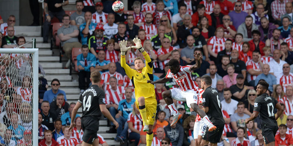
[[[101,72],[100,87],[104,89],[106,107],[119,123],[116,130],[108,122],[107,133],[116,133],[116,141],[125,140],[135,145],[146,144],[142,120],[135,106],[134,86],[120,65],[121,40],[134,45],[140,38],[152,59],[154,80],[166,75],[170,59],[181,66],[194,64],[193,54],[202,55],[201,67],[192,72],[192,79],[200,87],[200,77],[212,77],[212,87],[218,91],[225,119],[225,128],[218,145],[238,146],[264,144],[260,120],[246,124],[257,97],[259,81],[269,83],[268,94],[284,106],[277,120],[277,145],[293,144],[293,16],[291,0],[146,0],[134,1],[133,14],[112,13],[111,3],[77,0],[76,12],[65,14],[62,6],[68,0],[44,1],[43,43],[48,43],[49,27],[53,17],[63,26],[57,37],[61,40],[68,68],[72,48],[81,48],[77,56],[79,89],[81,93],[91,83],[92,71]],[[25,43],[24,37],[15,36],[15,16],[4,23],[0,16],[0,46],[14,48]],[[130,49],[126,62],[134,69],[134,60],[142,54]],[[28,59],[25,59],[28,58]],[[19,59],[16,55],[1,54],[1,113],[0,143],[29,144],[31,137],[31,74],[21,70],[28,67],[29,55]],[[22,61],[22,62],[19,62]],[[19,62],[19,63],[15,63]],[[21,77],[10,74],[17,71]],[[6,72],[8,72],[6,76]],[[68,103],[66,93],[59,89],[58,79],[48,84],[39,69],[39,145],[80,145],[83,131],[81,118],[76,115],[73,132],[67,128],[75,103]],[[195,146],[193,126],[196,113],[190,112],[185,102],[173,99],[183,118],[170,126],[173,117],[162,98],[162,92],[179,88],[170,79],[155,85],[157,116],[154,123],[153,145]],[[17,108],[21,107],[21,108]],[[275,113],[277,111],[274,111]],[[99,142],[108,144],[101,135]]]

